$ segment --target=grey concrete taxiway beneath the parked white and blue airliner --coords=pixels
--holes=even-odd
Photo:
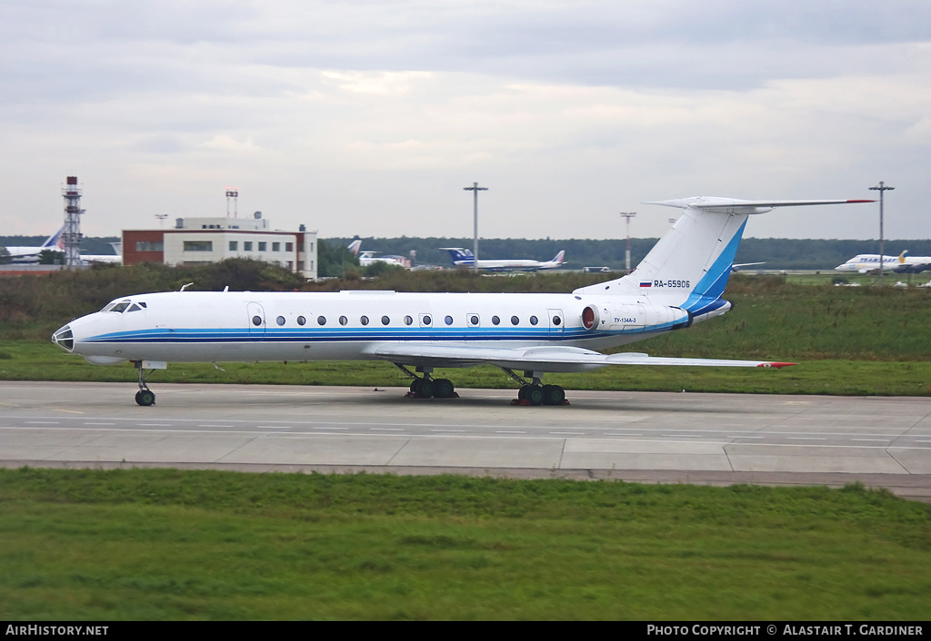
[[[0,465],[488,474],[730,485],[860,481],[931,501],[931,399],[0,382]]]

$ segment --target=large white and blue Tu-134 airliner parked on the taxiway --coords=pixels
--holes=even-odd
[[[95,365],[131,361],[136,402],[155,403],[146,370],[171,361],[376,360],[412,377],[417,397],[455,396],[436,367],[500,367],[519,383],[523,405],[563,405],[547,372],[608,365],[784,367],[771,361],[601,354],[604,350],[724,314],[724,286],[750,214],[774,207],[870,200],[748,201],[692,197],[652,205],[681,218],[621,278],[571,294],[399,293],[394,291],[195,292],[138,294],[61,327],[52,341]],[[413,368],[413,370],[412,370]],[[522,374],[522,375],[521,375]]]

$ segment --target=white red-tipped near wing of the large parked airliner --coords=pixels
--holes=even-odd
[[[471,367],[489,364],[509,369],[540,372],[581,372],[608,365],[680,367],[786,367],[794,363],[742,361],[714,358],[668,358],[632,352],[601,354],[581,347],[501,348],[449,345],[429,342],[383,343],[369,354],[393,363],[432,367]]]

